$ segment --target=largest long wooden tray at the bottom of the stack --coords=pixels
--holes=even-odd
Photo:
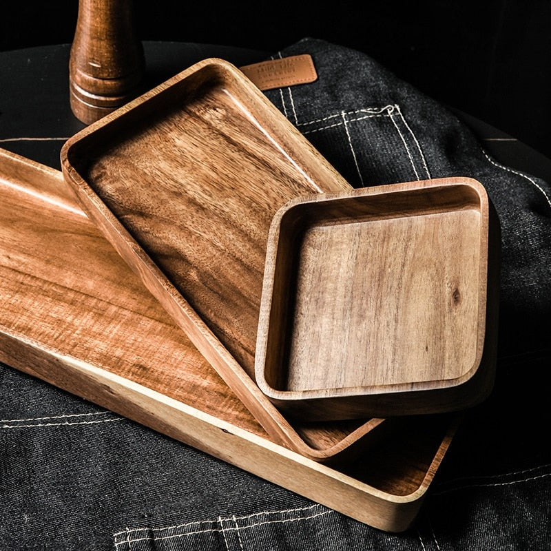
[[[401,419],[331,468],[347,433],[269,437],[72,199],[61,173],[0,150],[0,360],[382,530],[415,519],[453,435],[446,416]],[[357,429],[360,432],[365,429]],[[324,437],[320,433],[324,432]],[[362,441],[371,441],[362,439]]]

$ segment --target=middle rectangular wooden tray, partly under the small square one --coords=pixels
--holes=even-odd
[[[253,380],[267,236],[291,198],[350,185],[219,59],[79,132],[61,161],[85,211],[149,291],[267,432],[299,450]]]

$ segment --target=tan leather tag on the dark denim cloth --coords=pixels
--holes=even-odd
[[[318,79],[318,73],[315,71],[310,54],[244,65],[240,67],[240,70],[260,90],[306,84]]]

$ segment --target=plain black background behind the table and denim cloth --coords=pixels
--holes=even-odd
[[[3,3],[0,50],[70,43],[78,5]],[[433,98],[551,157],[550,0],[136,0],[135,13],[144,41],[275,52],[314,37],[356,48]]]

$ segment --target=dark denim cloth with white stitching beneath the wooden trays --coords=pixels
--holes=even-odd
[[[479,180],[502,231],[499,361],[415,526],[387,534],[8,367],[0,550],[551,549],[551,188],[365,54],[304,39],[319,79],[269,99],[356,186]]]

